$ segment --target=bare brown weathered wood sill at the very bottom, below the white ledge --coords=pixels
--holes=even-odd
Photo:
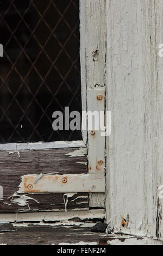
[[[92,233],[91,228],[95,223],[85,224],[81,227],[76,224],[73,227],[55,227],[50,225],[32,225],[18,227],[17,231],[0,233],[0,243],[7,245],[59,245],[62,243],[79,243],[86,245],[107,245],[106,234]],[[39,234],[39,236],[38,236]]]

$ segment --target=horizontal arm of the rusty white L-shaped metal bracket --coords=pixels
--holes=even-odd
[[[105,192],[104,175],[24,175],[20,185],[24,192]]]

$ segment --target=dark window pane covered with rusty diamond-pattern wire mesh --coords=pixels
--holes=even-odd
[[[54,111],[82,109],[79,0],[3,0],[0,8],[0,142],[82,139],[52,129]]]

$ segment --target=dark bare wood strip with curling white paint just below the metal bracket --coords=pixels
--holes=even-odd
[[[28,198],[24,196],[28,196]],[[68,202],[65,205],[67,199]],[[0,213],[68,211],[74,209],[89,209],[87,193],[77,193],[71,198],[64,196],[64,193],[18,194],[18,196],[15,195],[10,199],[0,201]]]

